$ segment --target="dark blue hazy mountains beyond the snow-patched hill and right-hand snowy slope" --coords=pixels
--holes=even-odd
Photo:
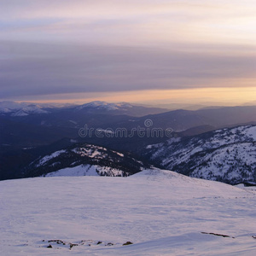
[[[255,106],[148,114],[163,109],[133,106],[125,102],[90,102],[61,108],[39,105],[35,108],[47,113],[36,113],[28,111],[34,108],[30,106],[31,103],[22,105],[23,110],[17,110],[10,102],[7,105],[16,112],[0,113],[0,179],[20,177],[20,169],[27,166],[28,162],[39,155],[49,154],[53,144],[64,141],[67,141],[64,148],[72,144],[69,142],[75,141],[139,155],[148,144],[163,143],[168,139],[157,133],[151,136],[154,128],[160,131],[170,129],[172,137],[188,137],[224,127],[256,124]],[[26,115],[13,114],[19,111],[26,111]],[[137,116],[132,116],[133,113]],[[139,116],[141,113],[147,114]],[[94,131],[91,136],[82,137],[79,133],[85,125]],[[138,127],[147,129],[145,136],[137,132]],[[102,131],[103,137],[96,135],[96,129]],[[106,136],[105,131],[108,129],[112,129],[112,137]],[[57,151],[62,148],[54,146],[54,149]]]

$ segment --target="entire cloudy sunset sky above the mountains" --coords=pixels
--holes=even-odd
[[[0,101],[256,100],[255,0],[0,3]]]

